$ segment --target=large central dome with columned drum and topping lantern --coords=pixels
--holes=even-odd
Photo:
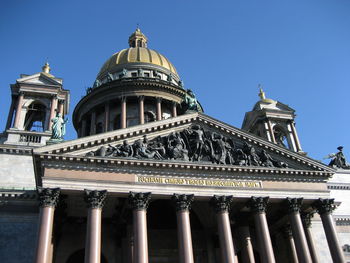
[[[107,59],[75,107],[73,124],[78,137],[185,113],[181,105],[192,95],[184,89],[174,65],[147,47],[148,39],[139,28],[128,42],[129,48]],[[198,110],[202,111],[200,105]]]

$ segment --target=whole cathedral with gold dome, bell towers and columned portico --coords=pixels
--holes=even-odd
[[[50,72],[11,85],[2,262],[350,259],[346,162],[308,157],[295,111],[262,89],[242,128],[208,116],[136,29],[75,106],[78,138],[64,141],[70,95]]]

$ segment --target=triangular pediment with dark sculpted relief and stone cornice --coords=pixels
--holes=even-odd
[[[146,140],[145,140],[146,138]],[[126,141],[125,145],[123,142]],[[137,125],[34,150],[47,159],[183,163],[244,169],[317,171],[332,168],[202,113]],[[225,168],[224,168],[225,169]]]

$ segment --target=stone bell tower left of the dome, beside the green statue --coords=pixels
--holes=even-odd
[[[33,75],[21,74],[11,84],[11,106],[7,117],[4,144],[42,146],[50,139],[51,119],[69,110],[69,91],[63,80],[50,74],[49,63]]]

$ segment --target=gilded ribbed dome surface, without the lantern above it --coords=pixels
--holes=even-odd
[[[113,54],[112,57],[104,63],[98,76],[103,73],[113,72],[114,68],[129,63],[153,64],[166,68],[171,73],[177,75],[173,64],[171,64],[171,62],[159,52],[144,47],[131,47]]]

